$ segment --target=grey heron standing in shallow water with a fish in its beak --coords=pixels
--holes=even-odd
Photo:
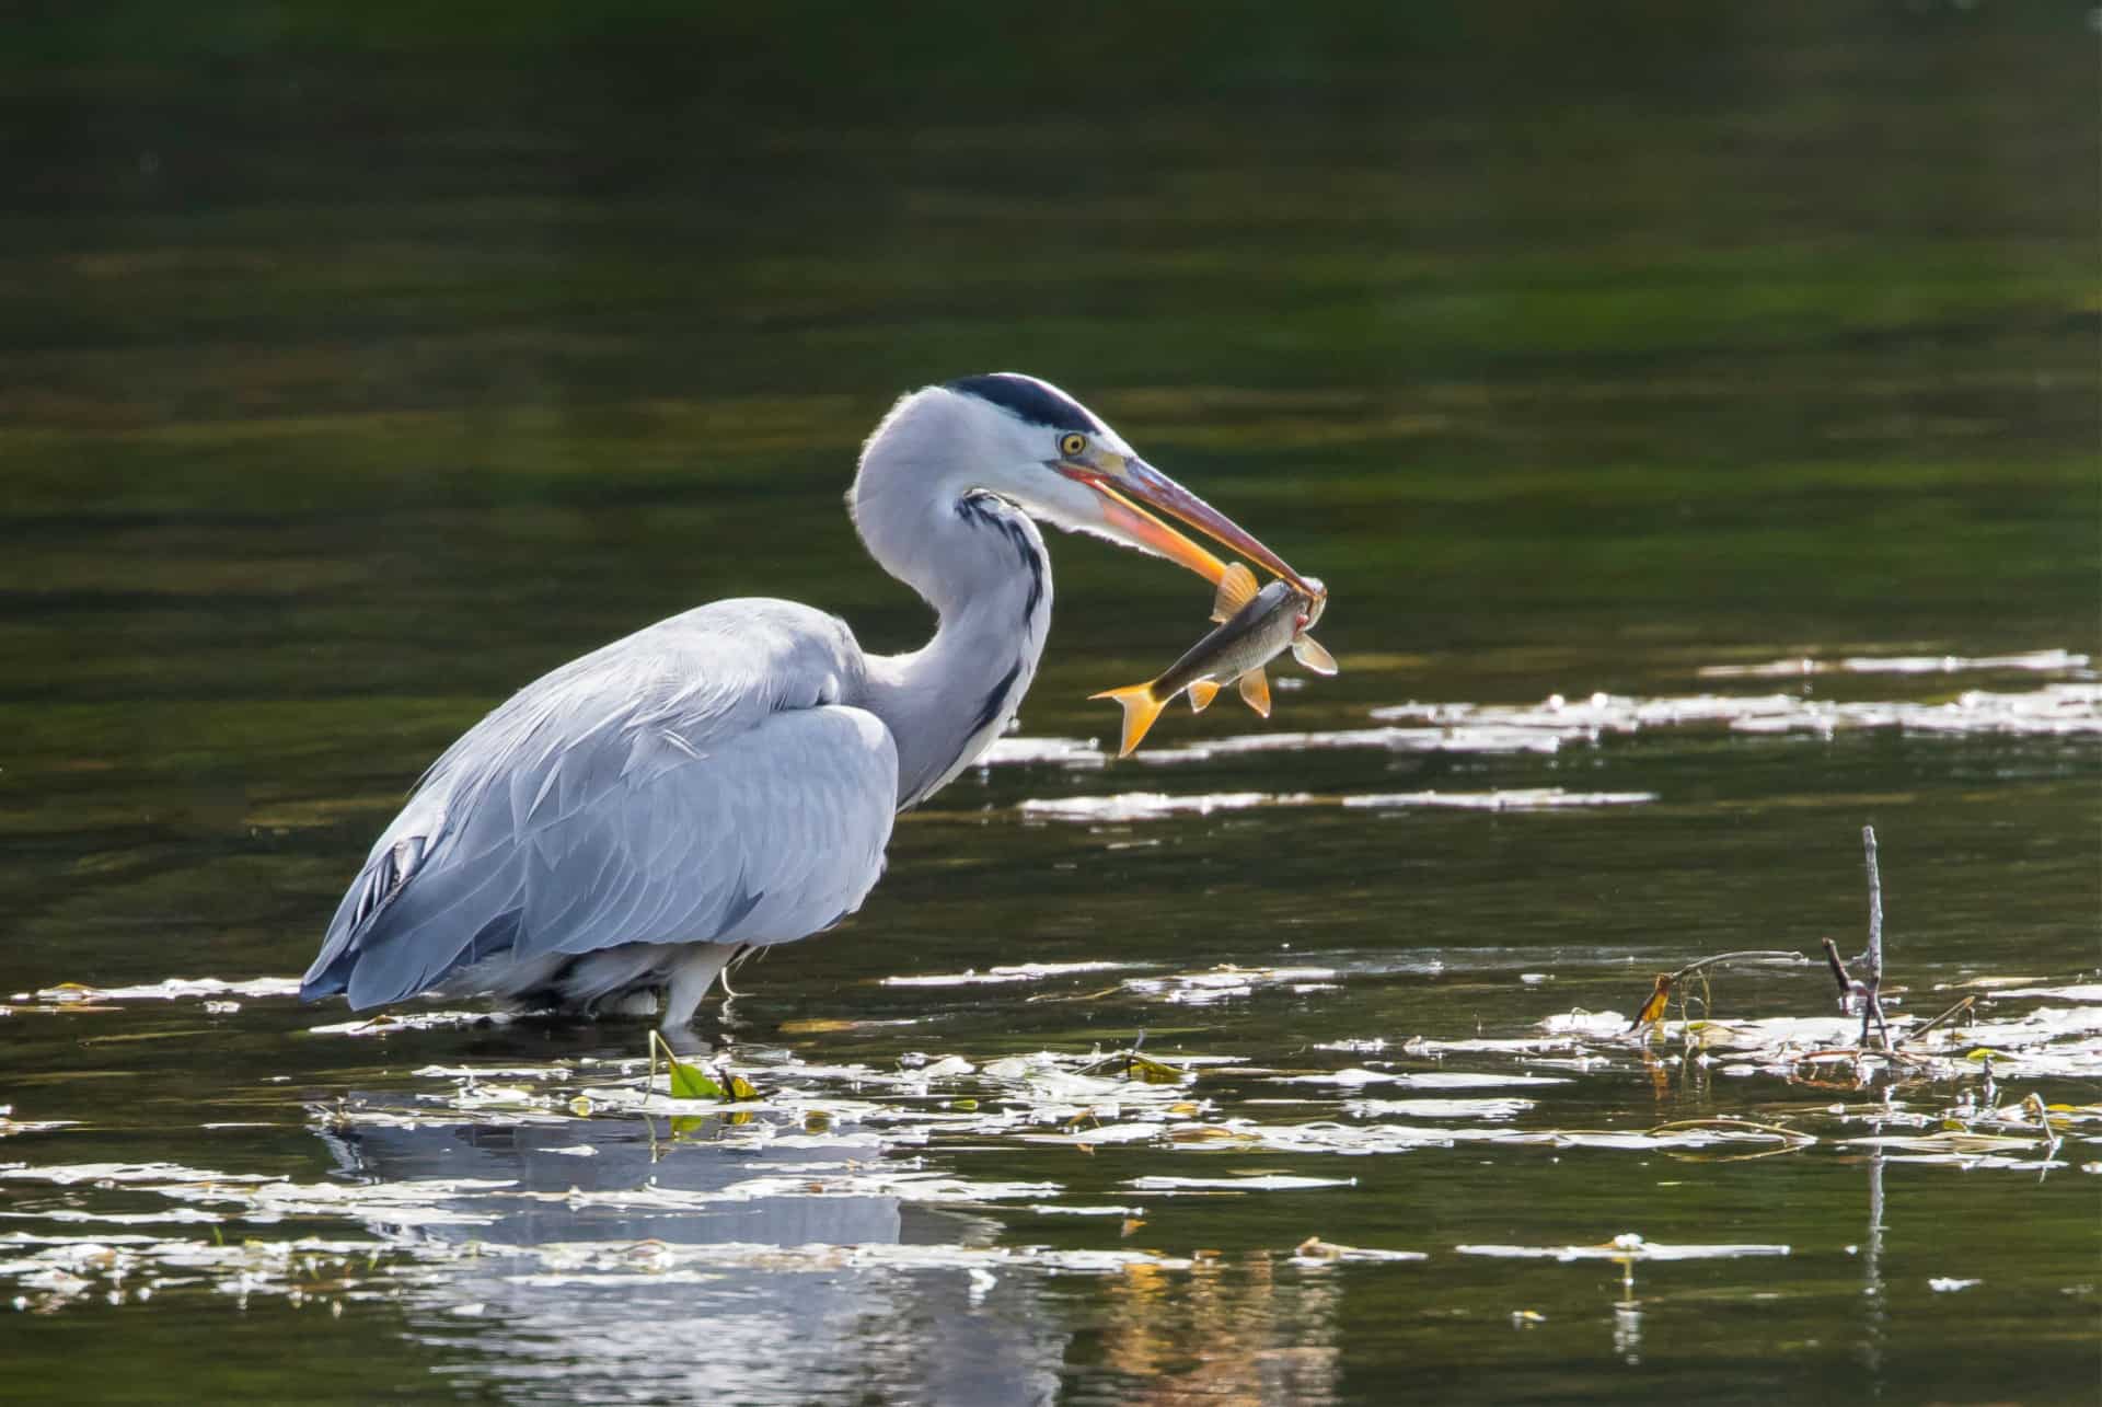
[[[847,501],[877,564],[933,606],[927,646],[862,654],[837,616],[744,597],[542,675],[431,763],[301,997],[595,1014],[662,993],[662,1024],[685,1024],[738,953],[860,909],[893,816],[1022,707],[1051,620],[1032,517],[1217,580],[1223,564],[1160,509],[1305,587],[1099,416],[1015,372],[898,400]]]

